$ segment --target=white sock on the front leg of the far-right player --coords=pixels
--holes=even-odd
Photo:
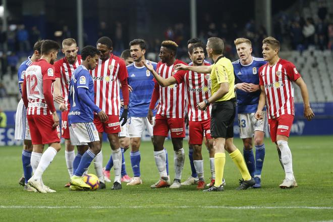
[[[293,159],[291,155],[288,142],[284,140],[277,141],[279,149],[281,150],[281,159],[284,165],[286,178],[289,180],[295,180],[293,173]]]

